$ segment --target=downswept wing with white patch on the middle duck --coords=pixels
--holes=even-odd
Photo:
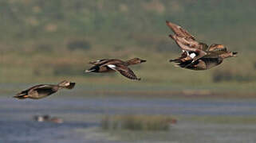
[[[124,75],[128,79],[140,80],[140,78],[137,78],[134,72],[132,72],[132,70],[127,66],[122,64],[108,64],[107,66],[116,72],[120,72],[121,75]]]

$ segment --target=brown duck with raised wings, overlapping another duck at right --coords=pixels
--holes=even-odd
[[[195,41],[195,37],[181,26],[175,25],[170,21],[166,21],[166,23],[167,26],[175,33],[174,35],[169,35],[169,37],[171,37],[175,43],[179,45],[179,48],[183,50],[182,56],[175,60],[182,60],[183,62],[192,60],[191,63],[194,63],[203,56],[211,54],[211,52],[226,51],[223,44],[211,44],[211,46],[208,47],[207,44]]]

